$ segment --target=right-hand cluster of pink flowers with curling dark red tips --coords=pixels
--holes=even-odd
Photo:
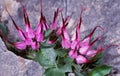
[[[99,35],[95,40],[92,42],[90,41],[92,35],[94,34],[95,30],[99,27],[101,30],[104,30],[101,26],[96,26],[92,32],[83,40],[80,40],[80,27],[82,23],[82,12],[80,14],[80,20],[77,24],[76,34],[73,36],[72,43],[71,43],[71,50],[69,51],[69,56],[76,60],[77,64],[89,63],[92,60],[90,58],[96,56],[101,50],[91,50],[91,46],[98,40],[100,40],[101,36]],[[65,45],[65,44],[64,44]]]

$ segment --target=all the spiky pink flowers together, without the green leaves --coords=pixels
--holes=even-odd
[[[45,41],[43,33],[46,30],[51,29],[53,31],[56,31],[56,37],[52,40],[49,40],[49,44],[55,43],[57,41],[57,39],[59,37],[61,37],[62,48],[70,50],[68,55],[71,58],[75,59],[77,64],[92,62],[92,59],[90,59],[90,58],[94,57],[100,51],[103,50],[100,47],[98,47],[98,49],[96,49],[96,50],[91,49],[91,46],[96,41],[98,41],[100,39],[100,36],[98,36],[98,38],[96,38],[92,42],[90,41],[93,33],[95,32],[95,30],[97,28],[100,28],[101,30],[104,30],[101,26],[96,26],[93,29],[93,31],[85,39],[83,39],[83,40],[80,39],[80,27],[81,27],[81,23],[82,23],[82,13],[83,13],[84,9],[82,9],[82,11],[81,11],[80,20],[79,20],[79,23],[77,24],[77,28],[76,28],[76,33],[73,36],[73,38],[70,39],[69,34],[67,33],[67,29],[66,29],[66,26],[69,23],[69,16],[66,17],[65,19],[62,16],[62,25],[60,27],[58,27],[58,24],[57,24],[57,17],[58,17],[59,12],[62,11],[62,9],[58,8],[55,11],[53,22],[49,26],[46,23],[46,18],[42,13],[42,6],[41,6],[41,18],[40,18],[39,24],[36,26],[35,29],[32,29],[32,27],[30,25],[30,22],[29,22],[28,14],[26,12],[26,9],[23,5],[22,5],[22,8],[23,8],[23,12],[24,12],[24,21],[25,21],[25,27],[26,27],[25,31],[21,30],[17,26],[14,19],[12,18],[12,16],[7,11],[10,18],[12,19],[12,22],[13,22],[15,28],[18,31],[19,37],[22,39],[21,42],[17,42],[15,44],[12,44],[16,48],[18,48],[20,50],[24,50],[27,47],[31,47],[33,50],[39,49],[40,48],[40,43]],[[62,15],[62,13],[61,13],[61,15]]]

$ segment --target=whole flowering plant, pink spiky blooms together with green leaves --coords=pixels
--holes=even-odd
[[[70,72],[75,73],[75,76],[107,75],[111,71],[111,67],[101,65],[102,51],[113,45],[93,47],[95,42],[101,39],[101,35],[95,38],[93,36],[94,32],[97,28],[103,32],[104,28],[96,26],[85,38],[82,37],[83,39],[81,39],[82,13],[85,11],[85,8],[82,8],[74,35],[70,37],[67,32],[70,17],[67,16],[64,18],[62,9],[58,8],[54,12],[52,23],[47,24],[47,20],[42,12],[42,0],[40,1],[40,21],[34,29],[29,22],[28,13],[22,3],[25,30],[18,27],[6,8],[21,39],[21,41],[16,43],[10,42],[0,30],[0,36],[6,44],[9,43],[17,48],[10,47],[10,50],[15,52],[24,50],[21,51],[22,53],[25,52],[23,57],[38,61],[45,69],[44,76],[56,76],[56,74],[58,76],[66,76]],[[59,13],[61,13],[61,25],[58,24]]]

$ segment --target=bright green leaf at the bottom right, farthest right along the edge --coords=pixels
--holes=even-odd
[[[89,76],[105,76],[110,73],[111,69],[107,65],[98,66],[89,73]]]

